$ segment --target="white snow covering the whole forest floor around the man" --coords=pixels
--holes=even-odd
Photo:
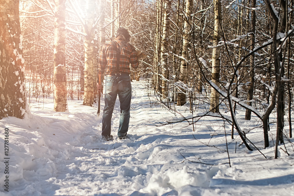
[[[175,120],[159,105],[150,105],[144,82],[133,82],[130,139],[117,140],[119,103],[113,112],[112,141],[101,140],[102,115],[82,101],[70,101],[70,113],[53,112],[52,99],[43,110],[36,103],[31,118],[0,120],[0,195],[294,195],[293,146],[280,158],[270,148],[248,151],[222,119],[201,118],[155,126]],[[104,100],[101,99],[102,109]],[[182,115],[191,115],[179,107]],[[200,111],[199,111],[200,112]],[[103,111],[101,111],[101,114]],[[176,118],[181,117],[180,114]],[[237,115],[241,128],[258,125]],[[195,120],[194,120],[195,121]],[[157,124],[160,125],[160,124]],[[271,124],[274,138],[275,124]],[[9,129],[9,155],[4,155],[4,129]],[[286,126],[286,128],[288,128]],[[262,147],[261,128],[248,139]],[[293,142],[293,139],[291,139]],[[231,167],[228,164],[228,152]],[[9,158],[9,159],[5,159]],[[9,192],[4,191],[5,161],[9,160]],[[200,163],[201,162],[201,163]]]

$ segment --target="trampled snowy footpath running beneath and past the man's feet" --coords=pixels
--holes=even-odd
[[[153,166],[146,166],[147,159],[152,155],[154,147],[158,143],[170,139],[170,137],[164,136],[165,128],[156,128],[153,123],[162,118],[161,112],[164,113],[164,116],[168,113],[150,107],[150,101],[142,83],[133,82],[132,86],[129,138],[125,140],[117,139],[120,118],[120,103],[117,98],[111,125],[111,134],[114,135],[114,139],[104,141],[97,138],[101,138],[101,115],[98,118],[100,120],[97,126],[89,127],[88,130],[91,131],[90,129],[92,129],[95,132],[94,137],[98,140],[96,140],[96,143],[91,142],[90,145],[86,145],[85,149],[82,150],[83,153],[76,154],[74,160],[69,160],[71,163],[68,166],[72,171],[65,174],[64,179],[61,179],[63,186],[68,186],[68,188],[57,190],[57,194],[64,194],[70,188],[71,192],[80,195],[87,195],[98,190],[102,194],[117,192],[124,195],[144,187],[144,182],[147,180],[146,173],[154,170]],[[104,107],[103,100],[101,98],[102,108]],[[150,119],[153,122],[150,122]],[[159,137],[162,134],[163,137]],[[150,137],[151,135],[153,137]],[[157,142],[152,144],[155,140]],[[143,152],[141,153],[142,148]],[[161,151],[161,148],[156,151],[157,154]],[[116,186],[116,183],[121,185]],[[81,187],[83,187],[82,190]],[[95,187],[94,190],[93,187]],[[77,190],[72,190],[75,188]]]

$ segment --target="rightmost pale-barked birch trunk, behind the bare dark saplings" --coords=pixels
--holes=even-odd
[[[217,46],[220,41],[221,23],[222,23],[222,5],[220,0],[213,0],[214,4],[214,33],[213,46]],[[220,87],[220,47],[212,49],[212,79],[211,81]],[[211,87],[210,108],[209,111],[213,113],[219,112],[219,93]]]

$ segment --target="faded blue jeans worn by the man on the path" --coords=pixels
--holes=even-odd
[[[105,79],[105,108],[102,118],[102,136],[110,136],[111,133],[111,117],[118,95],[121,116],[119,120],[118,137],[123,137],[128,132],[130,122],[130,107],[132,98],[132,87],[130,76],[122,74],[118,76],[107,76]]]

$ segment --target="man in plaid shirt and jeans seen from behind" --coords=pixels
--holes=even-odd
[[[118,95],[121,108],[119,120],[118,139],[125,139],[130,121],[130,106],[132,87],[130,80],[130,67],[138,68],[138,59],[134,46],[130,43],[130,35],[124,28],[119,28],[116,38],[108,41],[99,54],[98,73],[106,72],[105,79],[105,108],[102,117],[102,139],[112,140],[111,117],[114,104]],[[98,91],[102,85],[97,81]]]

